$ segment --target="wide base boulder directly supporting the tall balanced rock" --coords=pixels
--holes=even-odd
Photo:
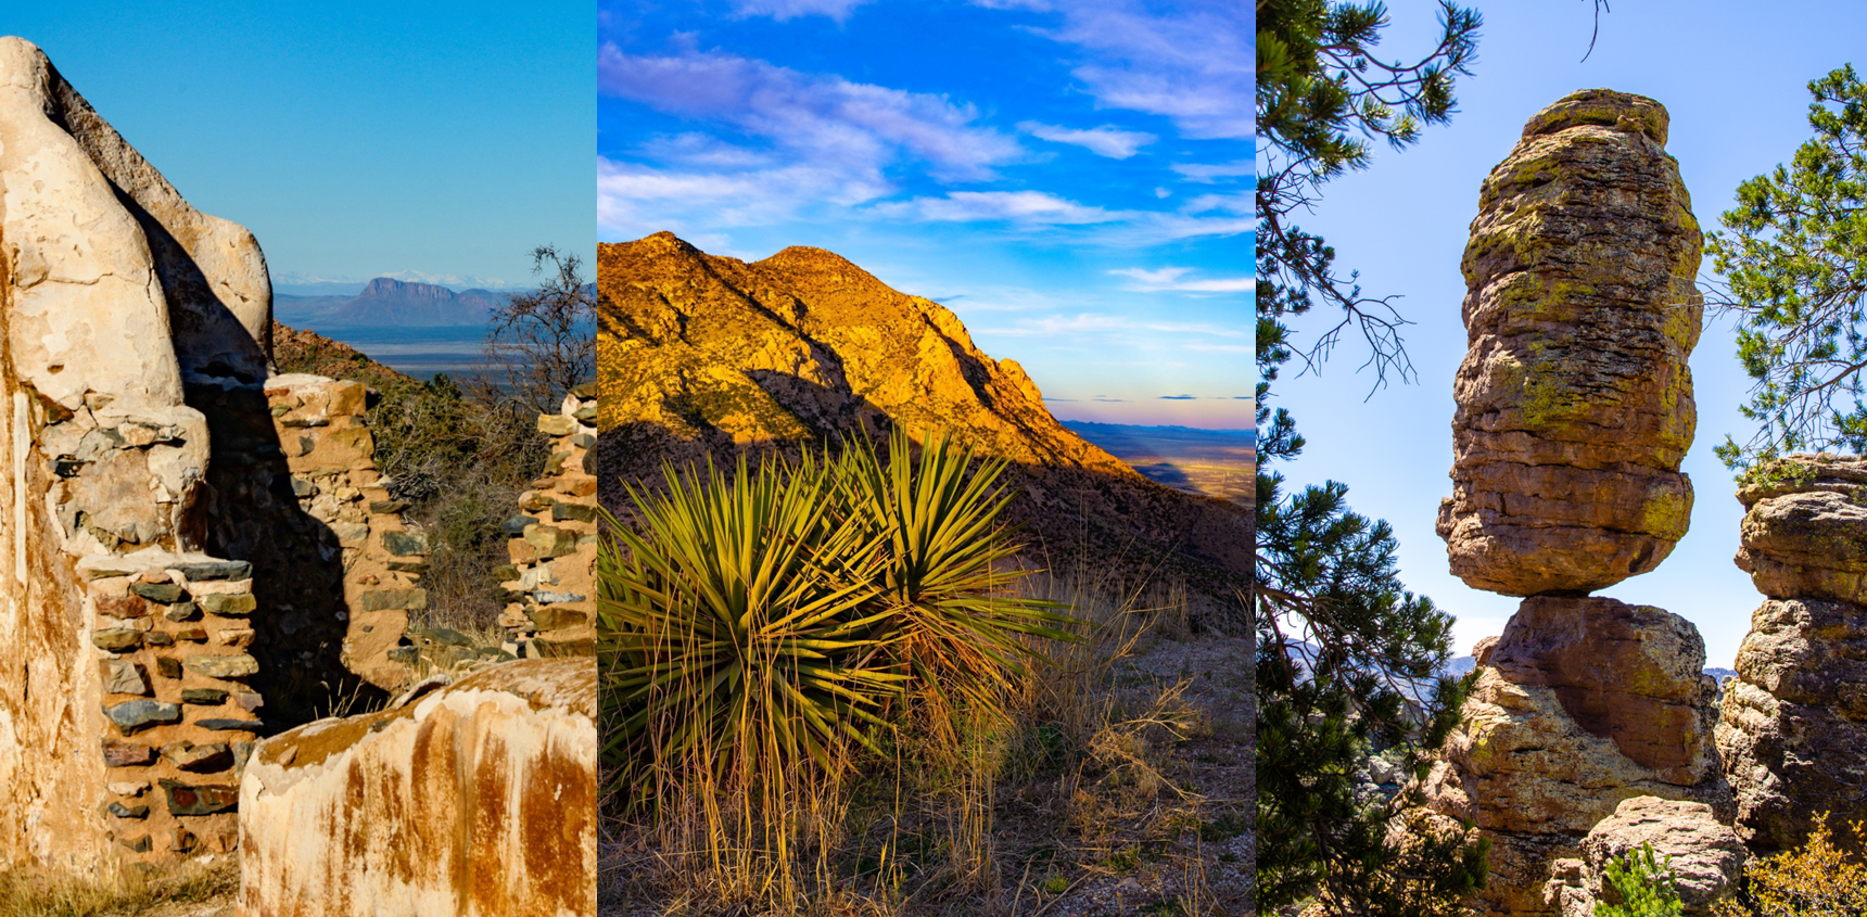
[[[1628,797],[1731,799],[1712,747],[1718,685],[1692,622],[1606,598],[1531,598],[1479,642],[1479,680],[1425,783],[1492,839],[1481,913],[1555,913],[1559,859]]]

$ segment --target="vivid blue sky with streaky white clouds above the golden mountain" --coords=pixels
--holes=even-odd
[[[605,0],[597,237],[838,252],[1062,418],[1249,428],[1249,7]]]

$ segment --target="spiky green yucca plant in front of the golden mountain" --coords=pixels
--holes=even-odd
[[[597,558],[607,790],[661,805],[696,762],[741,792],[799,768],[833,784],[879,730],[956,743],[962,712],[1003,712],[1021,637],[1072,622],[1012,594],[1003,471],[896,431],[887,459],[857,439],[631,486],[639,530],[611,519]]]

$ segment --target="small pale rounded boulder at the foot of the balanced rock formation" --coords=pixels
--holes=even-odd
[[[1581,857],[1555,865],[1548,898],[1563,917],[1594,917],[1596,904],[1621,904],[1607,882],[1607,865],[1643,846],[1673,872],[1673,889],[1686,917],[1712,917],[1718,902],[1736,895],[1749,852],[1710,805],[1656,796],[1622,799],[1581,840]]]

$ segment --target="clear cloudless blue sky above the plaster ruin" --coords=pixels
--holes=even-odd
[[[274,282],[530,280],[592,258],[590,7],[7,4],[196,207],[248,226]]]

